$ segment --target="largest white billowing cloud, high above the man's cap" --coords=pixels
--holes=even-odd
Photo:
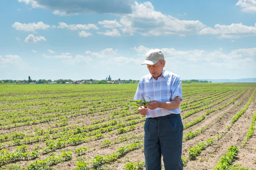
[[[132,13],[123,14],[120,19],[124,35],[134,32],[144,36],[198,34],[206,26],[198,20],[178,20],[177,18],[155,11],[151,2],[131,5]]]

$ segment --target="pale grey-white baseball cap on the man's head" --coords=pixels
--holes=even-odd
[[[163,53],[160,51],[160,49],[154,48],[149,50],[146,53],[145,56],[146,60],[141,64],[149,64],[149,65],[154,65],[157,63],[160,59],[164,59]]]

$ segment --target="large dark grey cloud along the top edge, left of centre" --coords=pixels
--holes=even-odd
[[[52,10],[53,14],[67,16],[84,13],[129,14],[135,0],[18,0],[32,8]]]

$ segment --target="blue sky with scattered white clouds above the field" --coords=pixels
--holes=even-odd
[[[256,77],[256,0],[1,0],[0,79]]]

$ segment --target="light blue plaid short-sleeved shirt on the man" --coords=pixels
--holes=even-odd
[[[156,80],[151,74],[147,74],[142,79],[140,79],[134,100],[145,99],[149,101],[157,100],[160,102],[173,101],[176,96],[182,99],[182,89],[180,77],[177,74],[166,71],[163,69],[162,75]],[[159,117],[166,116],[169,114],[179,114],[181,112],[180,108],[177,109],[163,109],[156,108],[155,110],[148,109],[146,118],[149,117]]]

